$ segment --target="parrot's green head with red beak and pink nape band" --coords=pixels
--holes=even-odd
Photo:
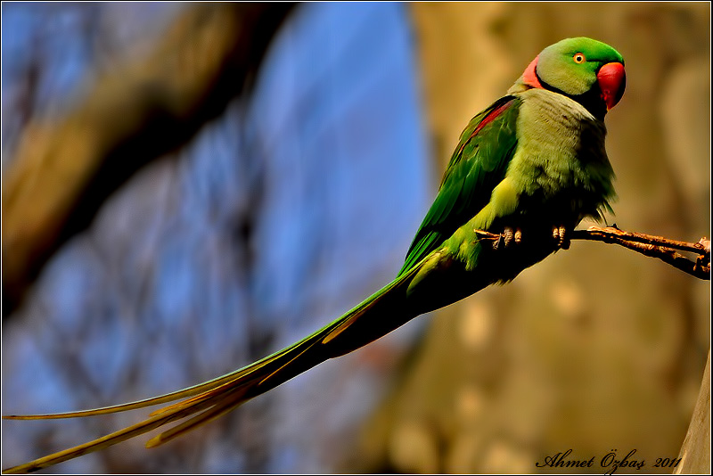
[[[567,38],[547,46],[519,81],[564,94],[603,118],[624,94],[624,59],[610,45],[591,38]]]

